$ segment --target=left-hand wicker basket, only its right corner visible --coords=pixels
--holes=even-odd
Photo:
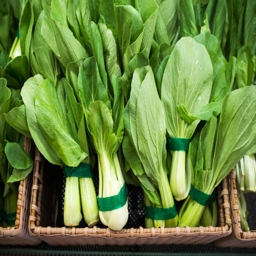
[[[31,145],[31,139],[25,137],[24,149],[30,156],[30,152],[32,151]],[[29,199],[31,197],[30,188],[32,186],[32,175],[33,173],[31,172],[26,179],[20,180],[15,227],[0,227],[0,244],[36,245],[41,242],[37,237],[30,236],[28,233]]]

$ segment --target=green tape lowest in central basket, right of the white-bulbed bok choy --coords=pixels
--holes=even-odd
[[[170,220],[177,215],[175,204],[169,208],[159,208],[146,205],[146,218],[152,220]]]

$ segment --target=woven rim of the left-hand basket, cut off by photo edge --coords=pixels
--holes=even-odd
[[[30,155],[31,151],[31,145],[32,140],[28,137],[24,138],[23,148],[24,150]],[[24,214],[24,193],[25,189],[28,183],[28,176],[24,180],[20,180],[20,185],[18,188],[18,200],[17,200],[17,210],[16,210],[16,220],[15,220],[15,226],[14,227],[7,227],[3,228],[0,227],[0,239],[1,237],[12,237],[12,236],[19,236],[23,221],[20,221],[23,219]]]

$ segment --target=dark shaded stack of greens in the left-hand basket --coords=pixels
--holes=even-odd
[[[27,127],[17,129],[25,112],[20,89],[29,77],[17,33],[20,16],[9,1],[1,1],[0,6],[0,226],[6,228],[15,225],[19,181],[32,171],[33,160],[23,149],[22,134],[30,137]]]

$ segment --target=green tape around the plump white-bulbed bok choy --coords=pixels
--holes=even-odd
[[[99,210],[101,212],[108,212],[119,209],[126,204],[128,198],[128,191],[126,184],[120,189],[117,195],[108,197],[97,197]]]

